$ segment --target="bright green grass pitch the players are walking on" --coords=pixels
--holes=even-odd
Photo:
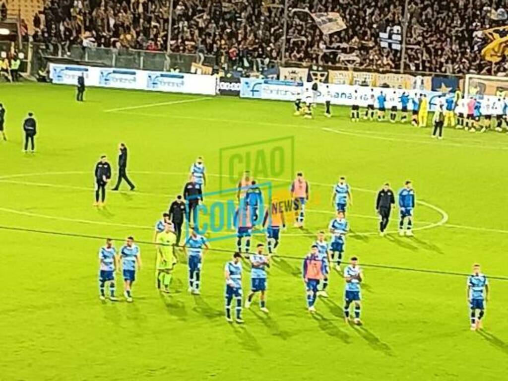
[[[205,157],[218,174],[219,150],[294,137],[294,169],[311,183],[307,229],[326,228],[331,186],[353,186],[348,220],[356,233],[346,257],[360,262],[507,276],[508,136],[429,129],[389,122],[352,123],[348,109],[331,119],[293,116],[290,103],[89,88],[2,84],[7,142],[0,142],[0,225],[149,241],[152,227],[181,192],[190,164]],[[180,102],[187,101],[191,102]],[[174,103],[172,103],[174,102]],[[159,104],[159,105],[154,105]],[[149,107],[137,107],[151,105]],[[128,108],[113,112],[105,110]],[[33,111],[37,153],[21,152],[21,122]],[[93,166],[106,153],[113,169],[119,142],[129,147],[134,193],[108,194],[92,207]],[[415,237],[375,234],[374,193],[411,179],[417,198]],[[218,189],[210,176],[208,191]],[[397,228],[392,215],[390,230]],[[280,254],[303,257],[310,237],[282,233]],[[370,234],[372,233],[372,234]],[[258,240],[264,240],[258,237]],[[1,380],[464,380],[505,379],[508,282],[491,280],[484,330],[471,332],[466,277],[365,267],[363,328],[342,319],[344,281],[332,273],[330,299],[314,317],[305,309],[301,261],[269,274],[267,307],[244,310],[244,326],[227,324],[223,268],[229,255],[204,259],[202,296],[186,293],[180,264],[171,296],[154,289],[154,248],[140,244],[144,268],[135,302],[98,299],[101,240],[0,230]],[[119,247],[121,241],[115,241]],[[233,239],[212,242],[234,249]],[[244,268],[245,269],[245,268]],[[117,278],[118,279],[118,278]],[[244,289],[248,272],[244,272]],[[121,290],[121,282],[117,280]]]

